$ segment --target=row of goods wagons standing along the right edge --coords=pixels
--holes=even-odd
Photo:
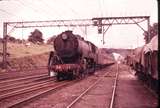
[[[128,61],[134,61],[132,66],[136,75],[158,92],[158,36],[154,36],[148,44],[136,48],[134,52],[134,57]]]

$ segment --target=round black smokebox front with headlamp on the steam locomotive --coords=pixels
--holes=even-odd
[[[72,31],[62,32],[54,40],[54,49],[62,59],[77,57],[78,40]]]

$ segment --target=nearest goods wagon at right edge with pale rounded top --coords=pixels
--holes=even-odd
[[[141,59],[142,72],[149,87],[158,92],[158,36],[145,45]]]

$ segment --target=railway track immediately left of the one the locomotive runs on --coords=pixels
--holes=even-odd
[[[31,77],[31,78],[35,78],[35,77]],[[45,78],[43,77],[41,79],[32,79],[31,81],[25,81],[25,80],[23,79],[24,82],[9,84],[1,87],[0,100],[31,91],[32,89],[42,87],[48,84],[49,82],[53,82],[53,79],[49,79],[49,77],[45,77]],[[20,79],[20,81],[22,81],[22,79]]]

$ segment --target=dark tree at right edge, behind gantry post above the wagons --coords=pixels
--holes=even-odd
[[[152,26],[149,26],[149,30],[143,33],[146,43],[149,42],[148,33],[150,33],[150,39],[152,39],[155,35],[157,35],[158,34],[158,23],[154,23]]]

